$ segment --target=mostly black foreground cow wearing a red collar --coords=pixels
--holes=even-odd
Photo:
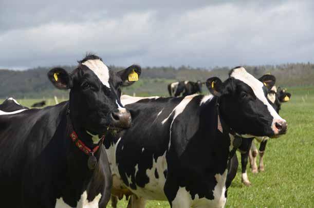
[[[110,71],[87,55],[71,73],[48,72],[54,86],[70,89],[69,101],[42,109],[0,106],[2,207],[106,206],[112,174],[102,135],[130,127],[119,87],[134,71],[141,69]]]

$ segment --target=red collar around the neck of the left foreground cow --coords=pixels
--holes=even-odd
[[[93,148],[89,148],[82,140],[79,139],[78,134],[76,133],[76,131],[73,128],[71,119],[70,119],[70,109],[67,110],[66,112],[66,118],[67,118],[67,123],[68,123],[68,134],[70,139],[75,143],[75,145],[86,155],[89,156],[94,156],[94,153],[97,152],[97,150],[99,149],[100,145],[102,145],[105,135],[102,136],[102,138],[100,139],[100,141],[98,142],[98,144],[93,147]]]

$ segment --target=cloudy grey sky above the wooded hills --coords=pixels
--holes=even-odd
[[[0,68],[314,62],[314,1],[0,1]]]

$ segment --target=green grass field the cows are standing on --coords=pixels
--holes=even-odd
[[[229,188],[226,207],[314,207],[314,87],[287,91],[292,94],[291,101],[284,103],[280,112],[288,122],[287,134],[267,143],[265,172],[253,175],[248,171],[252,186],[241,183],[239,166]],[[40,100],[17,101],[30,106]],[[54,104],[54,101],[47,103]],[[126,204],[122,200],[118,206],[126,207]],[[164,201],[149,201],[146,207],[170,206]]]

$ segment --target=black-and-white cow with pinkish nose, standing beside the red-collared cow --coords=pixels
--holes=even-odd
[[[287,123],[267,102],[267,89],[243,67],[225,82],[207,80],[211,95],[181,98],[122,96],[132,127],[104,141],[113,194],[171,207],[223,207],[234,135],[279,136]]]

